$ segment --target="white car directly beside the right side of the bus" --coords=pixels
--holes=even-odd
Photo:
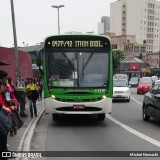
[[[113,79],[113,101],[124,100],[130,101],[130,89],[128,81],[125,79]]]

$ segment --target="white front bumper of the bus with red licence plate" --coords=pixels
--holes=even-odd
[[[96,102],[60,102],[45,99],[46,113],[54,114],[100,114],[112,112],[112,99],[105,98]]]

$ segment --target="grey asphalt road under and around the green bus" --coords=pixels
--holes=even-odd
[[[131,88],[130,102],[113,103],[111,115],[106,115],[104,122],[94,117],[69,116],[56,123],[50,114],[44,114],[39,121],[32,140],[34,151],[110,151],[113,157],[48,157],[48,160],[106,160],[106,159],[139,159],[138,157],[120,157],[124,152],[144,153],[160,151],[160,123],[155,120],[142,120],[143,95],[137,95]],[[71,152],[72,153],[72,152]],[[73,152],[74,153],[74,152]],[[80,153],[81,154],[81,153]],[[99,153],[97,153],[99,154]],[[119,158],[117,158],[117,157]],[[159,155],[160,156],[160,155]],[[160,159],[159,157],[141,157],[140,159]]]

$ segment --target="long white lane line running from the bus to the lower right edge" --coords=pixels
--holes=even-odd
[[[155,146],[157,146],[157,147],[160,148],[160,142],[159,142],[159,141],[157,141],[157,140],[155,140],[155,139],[153,139],[153,138],[151,138],[151,137],[148,137],[148,136],[146,136],[145,134],[142,134],[142,133],[134,130],[133,128],[131,128],[131,127],[129,127],[129,126],[127,126],[127,125],[119,122],[118,120],[116,120],[115,118],[113,118],[113,117],[112,117],[111,115],[109,115],[109,114],[106,114],[106,117],[107,117],[108,119],[110,119],[111,121],[113,121],[114,123],[116,123],[116,124],[118,124],[119,126],[121,126],[122,128],[124,128],[125,130],[127,130],[128,132],[130,132],[130,133],[138,136],[139,138],[142,138],[143,140],[148,141],[148,142],[150,142],[151,144],[153,144],[153,145],[155,145]]]

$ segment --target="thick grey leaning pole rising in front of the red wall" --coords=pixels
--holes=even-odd
[[[11,13],[12,13],[13,37],[14,37],[16,76],[18,78],[18,77],[20,77],[20,67],[19,67],[19,55],[18,55],[18,48],[17,48],[17,36],[16,36],[15,16],[14,16],[14,4],[13,4],[13,0],[10,0],[10,2],[11,2]]]

